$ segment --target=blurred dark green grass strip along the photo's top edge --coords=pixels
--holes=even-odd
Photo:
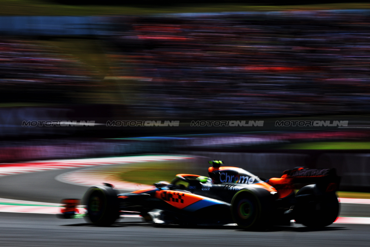
[[[110,14],[158,14],[222,11],[279,11],[279,10],[326,10],[369,9],[368,3],[334,3],[294,6],[246,6],[243,4],[192,4],[191,6],[94,6],[63,5],[42,0],[0,0],[0,15],[47,15],[47,16],[95,16]]]

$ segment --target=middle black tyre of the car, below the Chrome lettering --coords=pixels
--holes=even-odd
[[[231,215],[246,230],[262,230],[269,226],[266,198],[257,191],[241,190],[231,201]]]

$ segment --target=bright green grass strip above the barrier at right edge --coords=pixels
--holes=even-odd
[[[370,142],[339,141],[339,142],[311,142],[294,143],[280,146],[279,149],[370,149]]]

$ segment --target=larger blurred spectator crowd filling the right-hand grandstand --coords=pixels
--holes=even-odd
[[[370,112],[370,12],[115,17],[119,76],[141,77],[137,116]]]

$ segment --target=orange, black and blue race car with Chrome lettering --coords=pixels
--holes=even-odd
[[[332,224],[339,214],[335,194],[340,177],[332,169],[296,167],[281,178],[263,180],[237,167],[209,161],[209,177],[178,174],[171,182],[118,194],[110,184],[90,187],[84,196],[88,221],[109,226],[120,215],[139,214],[156,224],[230,224],[256,230],[289,226],[291,220],[307,227]],[[295,191],[300,188],[297,193]],[[65,199],[65,218],[77,203]]]

